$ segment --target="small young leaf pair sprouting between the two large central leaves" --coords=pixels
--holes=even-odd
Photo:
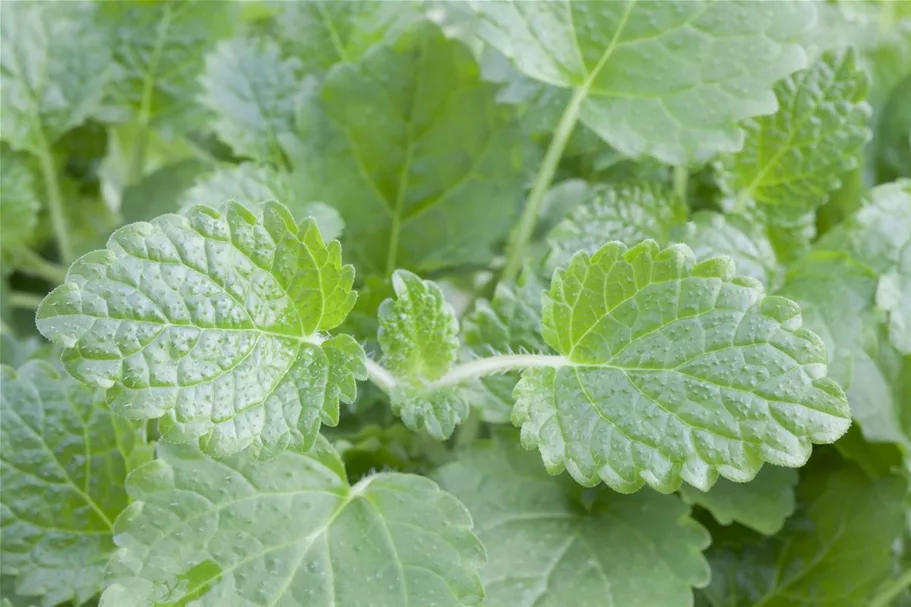
[[[399,380],[392,408],[412,430],[426,428],[440,440],[452,434],[468,414],[455,388],[436,390],[459,350],[459,321],[435,283],[406,270],[392,275],[395,298],[379,309],[377,339],[383,363]]]

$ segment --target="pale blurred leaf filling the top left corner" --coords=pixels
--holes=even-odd
[[[0,90],[3,140],[41,155],[99,112],[110,47],[87,2],[3,2]]]

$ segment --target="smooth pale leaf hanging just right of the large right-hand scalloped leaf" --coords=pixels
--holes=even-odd
[[[848,392],[851,414],[873,441],[911,446],[901,430],[902,405],[879,368],[877,276],[846,252],[815,251],[791,266],[781,295],[797,301],[807,326],[826,343],[833,379]]]

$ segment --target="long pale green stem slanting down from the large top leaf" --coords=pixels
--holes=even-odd
[[[563,150],[566,149],[566,143],[569,141],[570,135],[573,134],[576,122],[579,121],[579,111],[582,108],[582,102],[588,96],[588,88],[587,86],[582,86],[575,90],[569,104],[563,110],[560,122],[557,123],[554,137],[551,139],[547,153],[544,155],[541,168],[538,169],[535,183],[532,185],[531,193],[525,203],[525,210],[522,211],[522,217],[519,219],[519,226],[510,239],[506,265],[500,276],[502,281],[510,282],[515,280],[519,270],[522,269],[522,263],[525,261],[525,249],[528,247],[528,241],[531,240],[531,235],[535,230],[535,223],[538,220],[538,214],[541,212],[541,204],[544,202],[544,194],[547,193],[547,189],[554,179],[557,165],[563,156]]]

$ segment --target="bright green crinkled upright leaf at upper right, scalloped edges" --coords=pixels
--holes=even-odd
[[[854,54],[826,53],[775,86],[780,110],[749,121],[741,151],[719,163],[728,204],[788,224],[824,204],[870,136],[867,77]]]

